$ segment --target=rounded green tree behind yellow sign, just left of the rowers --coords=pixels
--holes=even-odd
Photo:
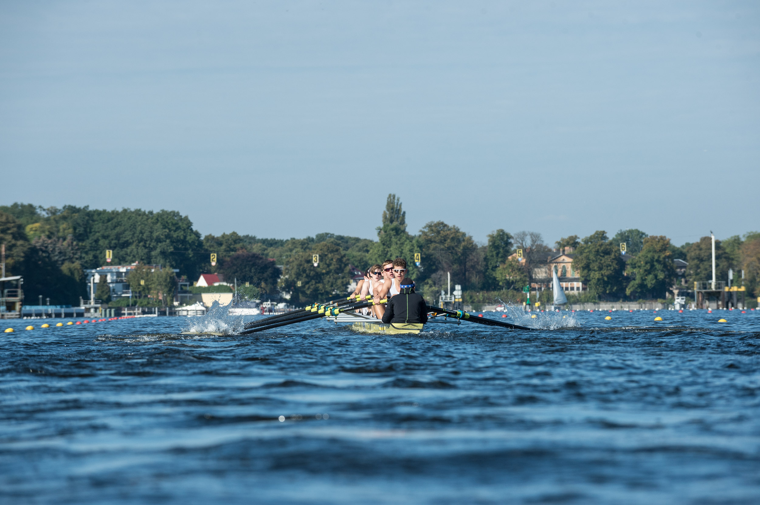
[[[312,254],[319,255],[316,267]],[[296,252],[286,260],[280,289],[290,292],[291,303],[300,305],[344,296],[349,283],[346,256],[340,246],[328,240],[315,244],[309,252]]]

